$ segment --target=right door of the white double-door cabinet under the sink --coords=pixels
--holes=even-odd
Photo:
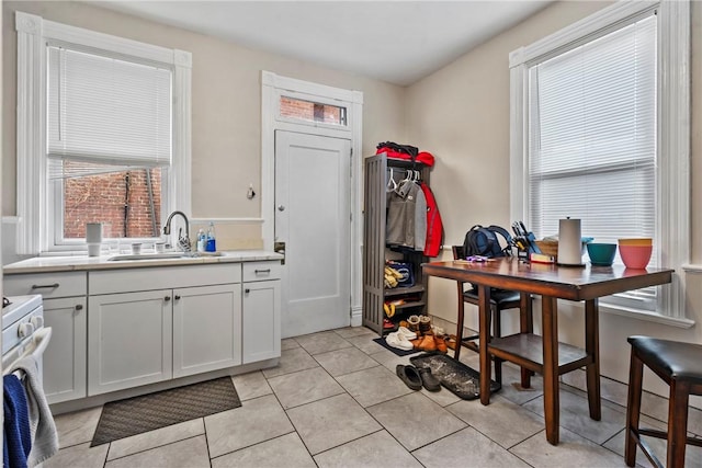
[[[241,364],[241,284],[173,290],[173,377]]]

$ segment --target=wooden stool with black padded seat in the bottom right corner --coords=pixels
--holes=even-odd
[[[702,447],[702,440],[687,436],[690,395],[702,395],[702,345],[649,336],[630,336],[627,341],[632,345],[632,358],[624,460],[630,467],[635,465],[638,445],[652,464],[663,467],[641,438],[647,435],[668,441],[668,468],[683,467],[686,443]],[[667,432],[638,427],[644,364],[670,386]]]

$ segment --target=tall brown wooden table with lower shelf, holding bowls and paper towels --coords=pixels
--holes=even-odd
[[[600,355],[598,298],[611,294],[670,283],[672,270],[629,270],[623,266],[557,266],[525,263],[517,258],[486,263],[431,262],[423,273],[472,283],[479,299],[480,402],[490,402],[490,356],[543,375],[546,440],[558,444],[558,376],[582,366],[587,373],[590,418],[599,421]],[[517,333],[490,338],[490,288],[512,289],[542,296],[542,335]],[[585,300],[585,350],[558,343],[557,299]],[[456,333],[460,342],[463,330]],[[483,345],[487,343],[487,346]]]

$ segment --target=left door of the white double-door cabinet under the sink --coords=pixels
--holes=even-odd
[[[91,296],[88,395],[172,378],[172,292]]]

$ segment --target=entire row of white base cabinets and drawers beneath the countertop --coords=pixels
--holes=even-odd
[[[3,278],[7,295],[44,296],[49,403],[147,392],[280,357],[279,260],[105,266]]]

